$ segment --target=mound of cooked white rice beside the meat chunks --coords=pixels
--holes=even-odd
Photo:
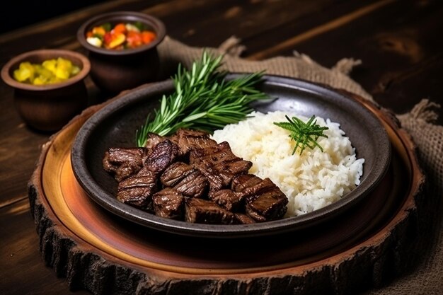
[[[364,159],[357,159],[350,139],[340,125],[316,117],[317,124],[326,126],[316,147],[299,150],[292,155],[295,142],[289,131],[273,122],[287,122],[285,112],[252,112],[251,118],[227,125],[214,132],[217,142],[228,141],[237,156],[253,162],[249,173],[260,178],[270,178],[289,199],[286,216],[297,216],[331,204],[360,183]],[[309,118],[296,115],[299,119]]]

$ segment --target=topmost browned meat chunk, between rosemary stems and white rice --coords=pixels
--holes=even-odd
[[[188,156],[191,149],[206,149],[217,146],[217,141],[211,139],[207,132],[198,130],[178,129],[170,139],[178,145],[183,156]]]

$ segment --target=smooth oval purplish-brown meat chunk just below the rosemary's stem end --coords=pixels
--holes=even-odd
[[[144,165],[148,170],[156,174],[163,173],[163,171],[176,161],[178,156],[178,146],[166,139],[157,144],[152,149],[151,154],[146,158]]]

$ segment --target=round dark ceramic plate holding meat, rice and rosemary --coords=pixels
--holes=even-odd
[[[103,154],[110,147],[135,146],[135,131],[145,122],[146,115],[158,107],[163,93],[173,91],[171,81],[131,91],[86,121],[71,151],[76,179],[93,200],[117,216],[159,231],[212,238],[267,236],[317,226],[345,214],[379,184],[389,167],[391,144],[379,119],[361,103],[332,88],[280,76],[265,76],[260,88],[277,99],[256,104],[255,110],[287,110],[340,123],[355,146],[357,157],[365,159],[361,184],[355,190],[314,212],[250,225],[190,224],[164,219],[117,201],[117,182],[103,170]]]

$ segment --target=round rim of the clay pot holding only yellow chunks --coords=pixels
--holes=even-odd
[[[75,64],[77,66],[80,66],[81,70],[79,71],[78,74],[72,76],[66,81],[45,84],[45,85],[33,85],[33,84],[19,82],[16,81],[16,79],[13,79],[13,77],[11,76],[11,70],[13,66],[18,67],[18,64],[20,64],[21,62],[27,62],[29,59],[32,59],[33,57],[40,57],[40,56],[45,56],[47,58],[57,58],[62,56],[64,58],[71,60],[71,62],[74,62],[73,59],[78,59],[80,61],[80,64],[76,63]],[[66,86],[71,86],[74,85],[75,83],[78,83],[79,81],[84,80],[86,76],[89,74],[90,70],[91,70],[91,62],[89,62],[89,59],[79,52],[74,52],[71,50],[42,49],[42,50],[33,50],[29,52],[24,52],[10,59],[9,62],[7,62],[1,69],[1,79],[3,79],[4,82],[9,86],[16,89],[21,89],[25,91],[49,91],[49,90],[64,88]]]

